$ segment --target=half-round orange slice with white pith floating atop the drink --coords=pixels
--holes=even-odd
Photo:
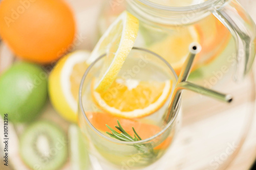
[[[94,86],[95,80],[92,82]],[[116,79],[104,92],[92,90],[94,102],[104,111],[124,118],[137,118],[157,111],[168,99],[172,81]]]

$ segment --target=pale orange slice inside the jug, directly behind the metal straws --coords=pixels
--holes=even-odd
[[[188,46],[192,42],[199,43],[199,33],[195,27],[188,27],[156,42],[149,49],[162,56],[179,74],[189,54]]]

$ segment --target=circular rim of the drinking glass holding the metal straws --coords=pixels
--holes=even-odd
[[[155,57],[159,58],[160,60],[162,60],[169,68],[170,70],[172,71],[176,81],[178,80],[178,76],[175,72],[175,70],[173,69],[173,67],[165,60],[163,59],[161,56],[159,56],[158,54],[150,51],[150,50],[147,50],[145,48],[140,48],[140,47],[133,47],[132,50],[141,50],[141,51],[144,51],[144,52],[147,52],[147,53],[150,53],[152,55],[154,55]],[[114,143],[118,143],[118,144],[142,144],[142,143],[146,143],[146,142],[149,142],[155,138],[157,138],[158,136],[162,135],[170,126],[173,125],[174,123],[174,120],[176,119],[178,113],[179,113],[179,110],[180,110],[180,103],[178,105],[178,109],[175,110],[174,112],[174,116],[172,116],[172,119],[169,120],[169,122],[165,125],[165,127],[158,133],[156,133],[155,135],[149,137],[149,138],[146,138],[146,139],[142,139],[142,140],[138,140],[138,141],[121,141],[121,140],[117,140],[117,139],[114,139],[112,137],[109,137],[109,136],[106,136],[106,135],[103,135],[99,130],[97,130],[90,122],[90,120],[87,118],[87,115],[86,115],[86,112],[84,111],[83,109],[83,106],[82,106],[82,88],[83,88],[83,84],[84,84],[84,80],[86,80],[86,77],[89,73],[89,71],[91,70],[91,68],[100,60],[102,59],[103,57],[105,57],[106,54],[102,54],[100,55],[92,64],[90,64],[90,66],[86,69],[86,72],[84,72],[83,74],[83,77],[82,77],[82,80],[80,82],[80,86],[79,86],[79,94],[78,94],[78,100],[79,100],[79,107],[80,107],[80,111],[82,112],[83,114],[83,117],[86,119],[86,122],[88,123],[88,125],[90,126],[90,128],[92,128],[93,131],[95,131],[99,136],[105,138],[106,140],[109,140],[111,142],[114,142]],[[78,113],[79,114],[79,113]]]

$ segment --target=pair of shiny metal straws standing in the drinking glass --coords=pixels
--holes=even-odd
[[[168,107],[168,116],[167,120],[169,120],[174,111],[177,109],[179,102],[181,100],[181,94],[184,89],[194,91],[200,93],[202,95],[209,96],[211,98],[217,99],[222,102],[230,103],[232,102],[232,96],[229,94],[220,93],[218,91],[214,91],[190,82],[187,82],[187,78],[192,69],[194,59],[198,53],[201,51],[201,45],[198,43],[191,43],[189,45],[189,55],[181,69],[179,79],[177,81],[176,87],[174,89],[172,100]]]

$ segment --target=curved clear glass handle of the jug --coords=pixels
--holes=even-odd
[[[250,70],[256,53],[255,23],[236,0],[222,1],[222,4],[211,12],[236,40],[237,58],[234,78],[238,81],[242,80]]]

